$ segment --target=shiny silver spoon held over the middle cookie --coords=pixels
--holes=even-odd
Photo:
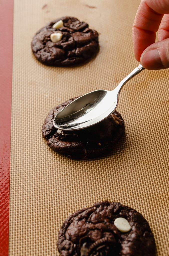
[[[143,69],[140,64],[113,91],[96,90],[74,100],[55,116],[53,125],[59,130],[74,131],[101,122],[117,108],[124,84]]]

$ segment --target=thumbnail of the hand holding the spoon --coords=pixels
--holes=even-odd
[[[141,55],[141,64],[147,69],[160,69],[163,67],[160,53],[157,49],[143,52]]]

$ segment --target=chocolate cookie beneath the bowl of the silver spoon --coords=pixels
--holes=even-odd
[[[124,133],[124,121],[117,111],[102,122],[82,130],[65,132],[53,126],[56,114],[75,99],[60,104],[47,115],[42,126],[42,136],[47,145],[75,159],[93,158],[110,152]]]

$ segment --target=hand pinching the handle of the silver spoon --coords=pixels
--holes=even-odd
[[[155,42],[156,31],[158,42]],[[169,68],[169,0],[142,0],[132,36],[135,58],[144,68]]]

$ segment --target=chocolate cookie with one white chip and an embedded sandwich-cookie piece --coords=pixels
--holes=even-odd
[[[58,234],[61,256],[154,256],[147,220],[118,202],[99,202],[64,221]]]

